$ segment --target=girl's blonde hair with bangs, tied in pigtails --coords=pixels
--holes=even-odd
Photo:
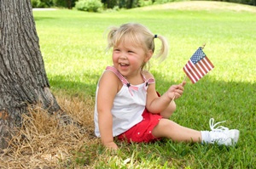
[[[159,38],[161,42],[160,50],[154,55],[160,61],[166,59],[168,55],[168,43],[166,37],[154,35],[147,27],[138,23],[127,23],[119,27],[113,26],[108,32],[108,49],[118,46],[120,42],[131,41],[134,45],[140,46],[145,52],[152,50],[154,54],[154,39]],[[142,69],[146,66],[145,63]],[[148,65],[149,66],[149,65]],[[149,69],[149,67],[148,67]]]

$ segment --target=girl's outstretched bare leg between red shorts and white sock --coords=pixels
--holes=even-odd
[[[176,122],[168,119],[161,119],[159,124],[154,127],[152,134],[156,138],[170,138],[177,142],[200,142],[201,132],[187,127],[182,127]]]

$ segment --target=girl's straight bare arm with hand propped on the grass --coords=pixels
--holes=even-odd
[[[118,149],[113,142],[113,117],[111,114],[113,99],[118,91],[119,79],[113,72],[105,71],[99,82],[97,110],[102,144],[110,149]]]

